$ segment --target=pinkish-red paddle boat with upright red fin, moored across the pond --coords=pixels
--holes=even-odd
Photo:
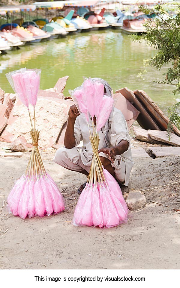
[[[103,29],[109,26],[103,17],[104,11],[105,8],[103,8],[99,14],[96,14],[93,11],[89,11],[83,15],[83,17],[88,20],[93,30]]]

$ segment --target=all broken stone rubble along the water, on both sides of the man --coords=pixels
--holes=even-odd
[[[55,87],[39,92],[36,121],[40,131],[40,149],[57,149],[64,144],[68,111],[73,104],[72,99],[64,98],[63,94],[68,78],[69,76],[59,78]],[[166,130],[169,119],[144,91],[133,92],[128,88],[122,88],[116,91],[114,99],[116,108],[125,116],[128,129],[131,129],[135,120],[141,126],[133,126],[138,140],[180,146],[180,131],[173,126],[171,139],[168,139]],[[29,130],[27,108],[16,98],[16,94],[4,93],[0,88],[0,141],[11,143],[13,151],[29,150],[32,147]]]

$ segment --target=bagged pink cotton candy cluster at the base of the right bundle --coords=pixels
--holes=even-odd
[[[121,188],[106,169],[103,173],[104,184],[86,184],[82,190],[74,211],[74,225],[110,228],[127,222],[128,207]]]

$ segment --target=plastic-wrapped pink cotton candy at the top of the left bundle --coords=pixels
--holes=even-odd
[[[6,74],[16,95],[28,108],[29,103],[35,107],[40,87],[41,69],[26,69],[11,71]]]

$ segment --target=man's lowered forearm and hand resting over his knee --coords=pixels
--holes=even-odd
[[[129,142],[127,140],[121,140],[118,145],[113,146],[111,148],[102,148],[98,151],[98,153],[104,152],[105,154],[108,155],[108,158],[114,163],[115,156],[121,155],[122,153],[127,151],[128,147]]]

